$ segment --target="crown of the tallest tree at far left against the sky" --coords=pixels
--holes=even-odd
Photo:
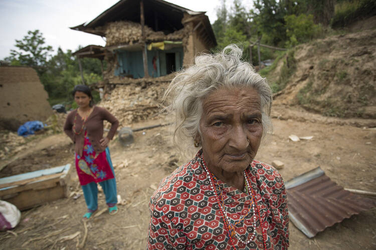
[[[45,45],[45,38],[39,29],[29,30],[23,39],[16,39],[15,46],[18,50],[11,49],[11,55],[6,60],[11,61],[13,65],[31,66],[39,75],[46,70],[46,62],[53,49],[52,46]]]

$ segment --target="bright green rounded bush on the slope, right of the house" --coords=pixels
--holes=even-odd
[[[313,22],[313,15],[300,14],[298,16],[286,15],[286,34],[289,40],[286,42],[287,46],[295,46],[299,43],[307,42],[316,37],[320,31],[321,26]]]

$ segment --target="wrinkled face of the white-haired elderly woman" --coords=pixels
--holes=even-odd
[[[241,171],[254,159],[263,126],[261,101],[253,88],[219,89],[203,102],[200,120],[204,159],[214,171]],[[249,142],[248,142],[249,141]]]

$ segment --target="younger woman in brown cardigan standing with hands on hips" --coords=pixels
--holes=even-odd
[[[86,85],[76,85],[73,96],[78,105],[70,112],[64,124],[64,132],[75,144],[75,163],[78,178],[84,192],[88,212],[85,219],[98,209],[99,183],[106,196],[109,213],[118,211],[116,206],[116,180],[108,142],[113,138],[119,121],[105,108],[93,105],[93,96]],[[103,137],[103,121],[111,123],[110,131]]]

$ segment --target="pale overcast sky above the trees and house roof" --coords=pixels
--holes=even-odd
[[[194,11],[207,11],[210,22],[217,19],[221,0],[168,0]],[[233,0],[227,0],[231,5]],[[72,30],[69,27],[91,21],[118,0],[0,0],[0,59],[15,48],[15,39],[22,39],[28,30],[39,29],[52,45],[54,54],[60,46],[64,51],[78,45],[105,45],[99,35]],[[249,8],[252,0],[243,0]],[[230,7],[229,7],[230,8]]]

